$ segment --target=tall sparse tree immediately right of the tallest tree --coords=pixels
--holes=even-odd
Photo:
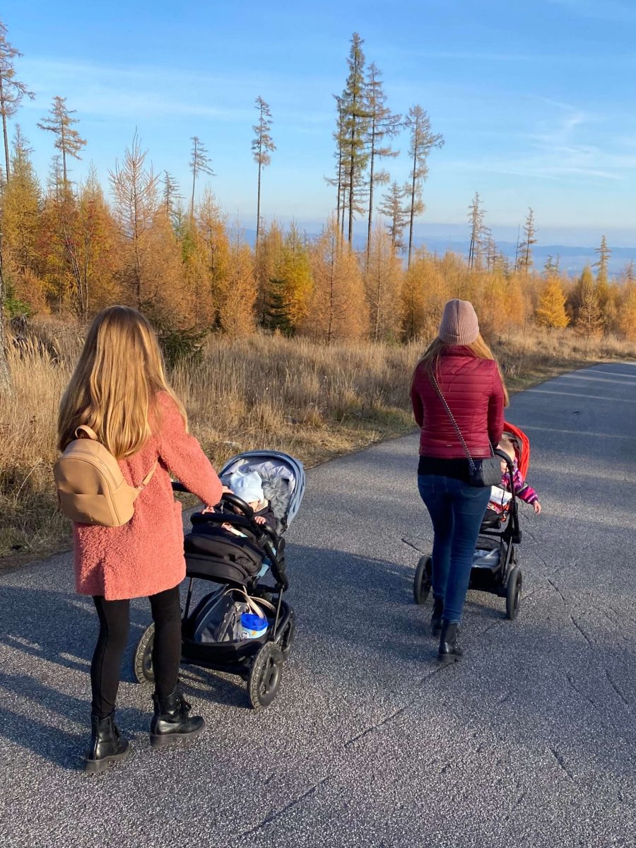
[[[377,159],[393,159],[399,150],[393,150],[387,141],[399,133],[402,115],[393,114],[387,106],[387,95],[382,86],[380,71],[374,63],[369,66],[366,78],[366,101],[369,114],[369,216],[366,228],[366,265],[371,252],[371,226],[373,220],[373,189],[388,183],[386,170],[376,170]]]

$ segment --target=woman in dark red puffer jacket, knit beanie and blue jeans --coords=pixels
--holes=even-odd
[[[501,438],[508,394],[467,300],[445,305],[438,338],[417,363],[410,389],[421,427],[417,484],[434,531],[431,628],[440,636],[439,660],[454,662],[462,656],[457,637],[490,487],[471,486],[466,451],[433,376],[472,459],[490,456],[490,445]]]

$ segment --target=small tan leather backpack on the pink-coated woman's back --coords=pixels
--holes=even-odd
[[[131,520],[135,500],[150,483],[157,463],[139,486],[132,487],[91,427],[77,427],[75,437],[53,466],[60,512],[80,524],[121,527]]]

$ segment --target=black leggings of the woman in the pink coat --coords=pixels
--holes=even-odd
[[[130,629],[130,601],[93,597],[99,616],[99,637],[91,663],[92,715],[106,718],[114,710],[120,685],[121,657]],[[154,687],[159,697],[174,692],[181,659],[179,587],[148,598],[153,611]]]

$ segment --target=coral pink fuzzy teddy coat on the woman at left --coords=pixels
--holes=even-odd
[[[75,588],[106,600],[139,598],[172,589],[186,576],[181,505],[170,472],[204,504],[220,500],[221,483],[198,441],[190,436],[170,395],[158,395],[159,425],[137,454],[120,460],[131,486],[138,486],[153,463],[156,471],[135,501],[131,521],[122,527],[73,525]]]

